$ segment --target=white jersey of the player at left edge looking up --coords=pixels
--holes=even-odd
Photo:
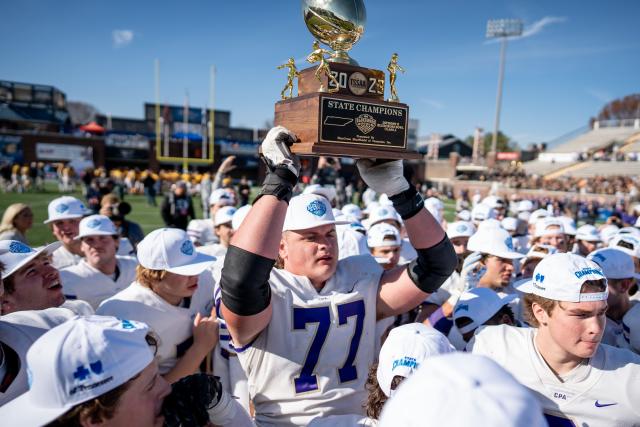
[[[62,307],[45,310],[17,311],[0,317],[0,346],[4,355],[4,372],[0,376],[0,406],[29,389],[27,382],[27,350],[49,329],[75,317]],[[8,381],[6,376],[14,377]]]

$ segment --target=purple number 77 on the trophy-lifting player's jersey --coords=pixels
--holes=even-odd
[[[364,326],[364,301],[353,301],[346,304],[340,304],[338,308],[338,325],[344,325],[348,322],[350,317],[355,316],[356,327],[351,338],[351,344],[349,345],[349,352],[347,358],[342,365],[342,368],[338,369],[338,377],[340,382],[353,381],[358,378],[358,371],[354,365],[356,354],[358,353],[358,347],[360,346],[360,337],[362,336],[362,329]],[[313,337],[309,352],[304,360],[300,375],[293,379],[295,384],[296,393],[305,393],[318,389],[318,378],[313,374],[313,370],[318,364],[320,358],[320,352],[324,346],[324,342],[329,334],[329,327],[331,326],[331,309],[330,307],[313,307],[313,308],[293,308],[293,329],[307,329],[308,323],[317,323],[318,329]]]

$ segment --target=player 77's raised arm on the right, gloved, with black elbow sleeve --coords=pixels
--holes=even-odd
[[[376,308],[382,319],[411,310],[440,288],[453,273],[457,257],[440,224],[424,208],[422,196],[404,178],[401,160],[381,164],[358,160],[357,165],[367,185],[389,196],[418,253],[408,265],[382,275]]]

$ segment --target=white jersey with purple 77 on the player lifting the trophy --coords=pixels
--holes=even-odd
[[[271,321],[236,349],[258,425],[363,414],[382,272],[371,256],[349,257],[318,292],[307,277],[272,270]]]

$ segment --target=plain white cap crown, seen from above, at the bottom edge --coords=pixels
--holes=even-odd
[[[429,358],[382,409],[380,427],[547,426],[533,393],[485,356]]]

